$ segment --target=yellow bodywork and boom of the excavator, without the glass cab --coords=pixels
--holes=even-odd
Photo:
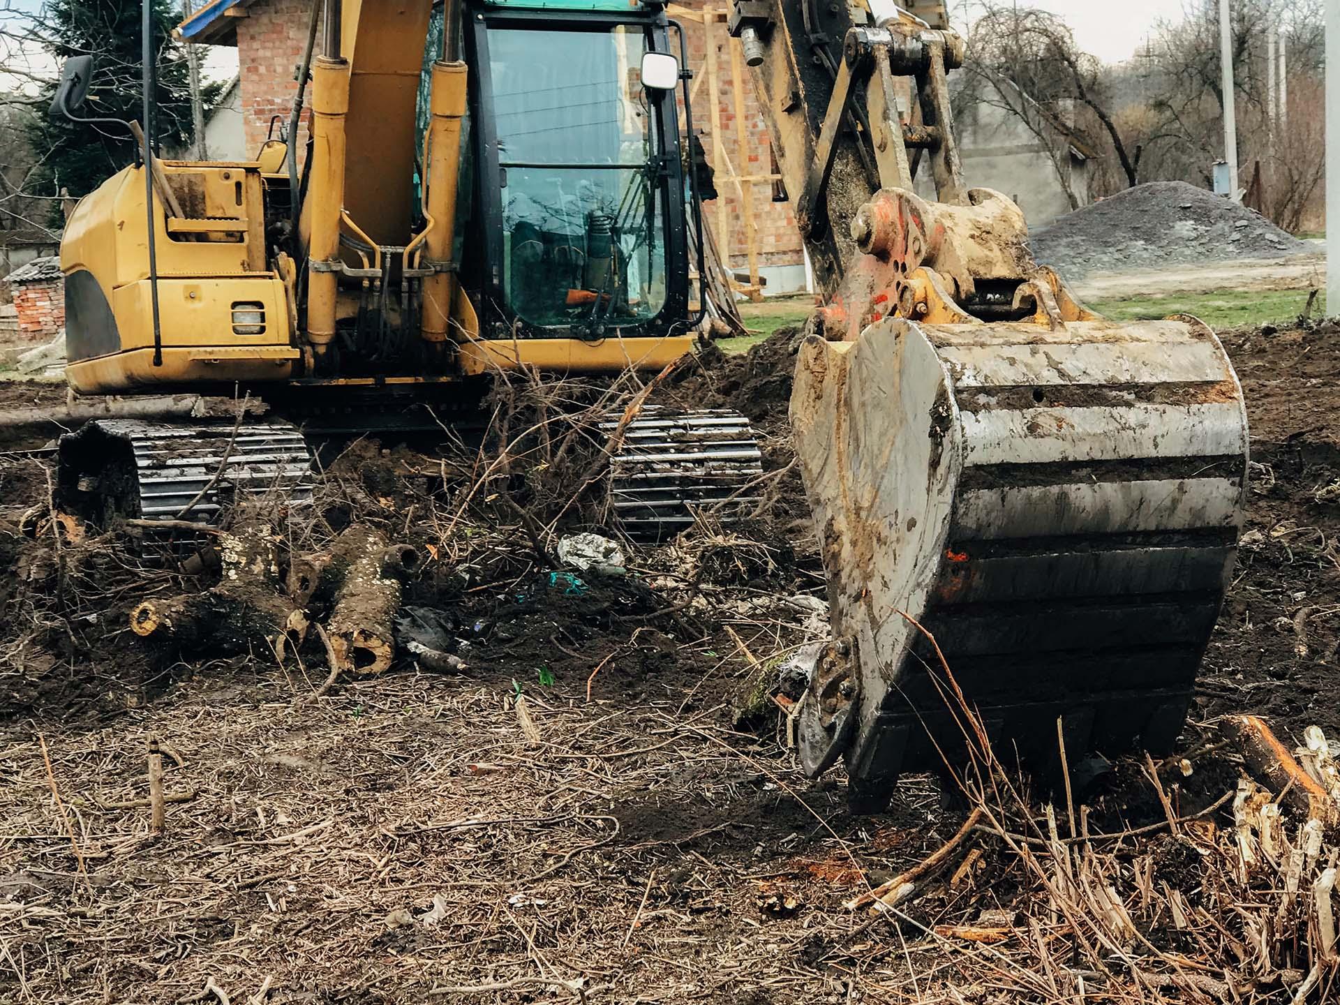
[[[66,373],[76,391],[342,378],[342,360],[330,346],[366,303],[370,283],[395,291],[402,267],[422,276],[417,334],[425,355],[418,367],[387,367],[379,381],[450,379],[523,366],[654,370],[691,350],[687,335],[595,343],[480,339],[474,306],[457,281],[458,264],[450,263],[469,71],[464,63],[434,63],[430,127],[419,151],[415,107],[430,4],[346,0],[342,11],[338,58],[318,58],[312,67],[314,149],[299,226],[306,303],[295,303],[300,284],[292,281],[292,260],[276,260],[276,268],[288,263],[288,283],[269,268],[275,239],[265,233],[264,185],[287,180],[283,145],[268,142],[256,162],[158,161],[170,192],[155,189],[153,198],[162,350],[155,364],[145,169],[126,168],[79,202],[62,241],[71,316]],[[427,176],[421,205],[417,154]],[[429,222],[415,233],[419,212]],[[386,251],[358,253],[342,247],[342,233]],[[302,255],[297,261],[303,268]],[[347,267],[363,275],[342,275]],[[381,279],[370,279],[375,273],[368,269],[382,269]],[[260,334],[234,331],[239,304],[260,306]],[[399,311],[394,292],[389,306]]]

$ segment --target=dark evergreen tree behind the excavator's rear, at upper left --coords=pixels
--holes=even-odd
[[[147,1],[153,4],[158,67],[153,130],[163,147],[180,149],[193,138],[186,54],[172,38],[180,11],[168,0]],[[58,63],[70,56],[94,58],[88,98],[76,114],[126,121],[142,117],[139,0],[47,0],[38,21],[43,47]],[[205,88],[206,107],[218,90],[217,84]],[[52,82],[43,102],[55,92]],[[34,188],[44,196],[59,194],[60,189],[75,197],[87,194],[135,159],[130,133],[110,123],[83,125],[38,115],[28,126],[28,143],[42,161]],[[56,222],[59,216],[56,212]]]

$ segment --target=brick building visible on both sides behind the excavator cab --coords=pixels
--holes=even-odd
[[[744,110],[745,150],[740,150],[736,126],[736,83],[732,75],[730,46],[726,35],[725,9],[713,9],[704,0],[687,0],[677,7],[677,17],[685,27],[689,44],[689,63],[694,72],[694,127],[702,139],[709,162],[718,173],[718,200],[705,204],[704,220],[713,234],[725,229],[730,265],[736,272],[749,269],[749,237],[746,226],[752,218],[752,237],[760,275],[766,279],[765,292],[788,293],[805,289],[804,252],[789,202],[772,201],[772,185],[765,180],[734,182],[734,176],[758,178],[768,176],[772,157],[768,130],[758,114],[754,90],[748,71],[741,70],[740,105]],[[190,42],[216,46],[236,46],[239,63],[239,105],[243,119],[243,149],[229,150],[226,157],[255,157],[269,134],[276,115],[287,123],[292,111],[295,76],[303,59],[307,40],[310,0],[213,0],[193,13],[178,28],[178,35]],[[704,17],[714,23],[705,25]],[[706,52],[708,35],[716,50],[717,102],[710,102]],[[742,60],[734,60],[742,66]],[[308,90],[308,96],[311,91]],[[717,133],[720,150],[713,138]],[[210,157],[225,158],[225,151],[210,149]],[[742,186],[753,189],[752,217],[745,213]],[[720,206],[718,206],[720,202]],[[720,241],[718,241],[720,244]]]

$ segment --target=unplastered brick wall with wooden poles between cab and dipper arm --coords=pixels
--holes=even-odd
[[[702,0],[689,0],[682,5],[695,12],[702,11],[704,7],[716,7],[717,9],[722,7],[720,3],[704,4]],[[737,272],[744,272],[749,267],[746,228],[753,229],[760,265],[797,265],[804,261],[804,253],[801,252],[800,232],[796,230],[796,218],[792,214],[792,204],[773,202],[772,185],[756,182],[753,185],[753,216],[746,218],[740,188],[734,182],[726,181],[732,174],[758,176],[769,174],[772,170],[772,145],[762,113],[758,109],[749,67],[744,64],[742,58],[738,60],[742,75],[738,86],[744,98],[745,121],[745,143],[744,150],[741,150],[736,129],[736,83],[732,80],[730,64],[730,46],[737,43],[732,42],[725,21],[718,17],[712,28],[717,50],[718,92],[717,109],[713,110],[708,84],[706,29],[701,20],[685,17],[681,24],[689,46],[689,68],[694,74],[690,83],[693,88],[693,127],[702,141],[708,163],[713,163],[714,159],[714,131],[718,133],[722,151],[720,163],[722,170],[717,177],[718,197],[704,204],[704,222],[712,228],[713,236],[718,236],[721,233],[718,229],[721,214],[725,216],[730,267]]]

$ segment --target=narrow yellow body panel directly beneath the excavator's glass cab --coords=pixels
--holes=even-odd
[[[693,350],[691,335],[638,339],[481,339],[460,350],[460,366],[466,374],[492,370],[536,367],[556,373],[616,373],[619,370],[661,370]]]

